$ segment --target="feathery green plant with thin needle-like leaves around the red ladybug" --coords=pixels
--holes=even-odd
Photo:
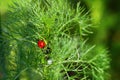
[[[105,80],[107,52],[87,44],[88,12],[68,0],[19,0],[2,21],[7,80]],[[46,49],[37,46],[46,42]],[[5,45],[4,45],[5,46]]]

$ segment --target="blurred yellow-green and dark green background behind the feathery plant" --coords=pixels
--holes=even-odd
[[[74,3],[81,1],[81,5],[86,10],[90,10],[92,23],[94,24],[94,34],[89,35],[90,42],[106,47],[111,57],[112,80],[120,80],[120,0],[70,1]],[[0,22],[5,19],[5,13],[9,9],[8,5],[12,5],[12,0],[0,0]]]

